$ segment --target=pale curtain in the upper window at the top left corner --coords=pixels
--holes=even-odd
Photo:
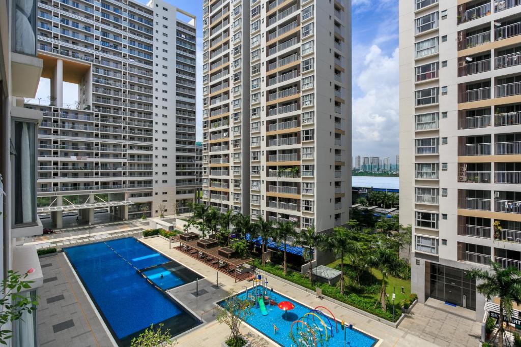
[[[15,51],[35,54],[36,39],[30,18],[34,0],[16,0],[15,12]]]

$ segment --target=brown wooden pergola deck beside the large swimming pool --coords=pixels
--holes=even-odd
[[[231,252],[233,251],[232,249],[219,247],[213,239],[207,239],[207,242],[201,242],[204,240],[199,240],[197,238],[189,238],[190,240],[186,240],[187,238],[182,237],[182,235],[183,234],[170,237],[170,243],[179,242],[179,246],[174,247],[175,249],[216,268],[218,271],[223,272],[228,276],[232,276],[235,279],[235,282],[238,280],[242,281],[252,276],[251,273],[239,272],[238,267],[247,262],[251,262],[253,259],[235,258]],[[204,245],[204,247],[200,247],[199,245]],[[213,247],[209,247],[209,245],[213,245]]]

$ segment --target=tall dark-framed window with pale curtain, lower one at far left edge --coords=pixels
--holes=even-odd
[[[36,223],[36,123],[15,120],[11,141],[13,162],[13,225]],[[19,174],[17,174],[19,173]]]

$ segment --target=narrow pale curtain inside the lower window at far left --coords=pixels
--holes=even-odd
[[[31,150],[29,147],[29,131],[27,123],[22,123],[20,139],[20,184],[22,200],[22,223],[32,222],[32,195],[31,195]]]

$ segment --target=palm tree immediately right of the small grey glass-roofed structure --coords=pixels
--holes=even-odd
[[[353,237],[351,230],[338,226],[333,228],[333,232],[326,236],[322,243],[322,249],[332,251],[340,256],[340,292],[344,293],[344,256],[348,253],[361,253],[362,249],[359,243]]]

